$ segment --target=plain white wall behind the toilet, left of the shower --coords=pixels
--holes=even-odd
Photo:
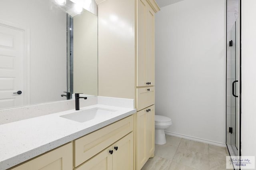
[[[156,114],[169,134],[226,143],[226,2],[183,0],[156,14]]]

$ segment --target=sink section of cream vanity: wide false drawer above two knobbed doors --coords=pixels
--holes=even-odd
[[[133,170],[133,128],[131,115],[74,140],[74,170]]]

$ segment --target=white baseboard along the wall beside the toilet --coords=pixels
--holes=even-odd
[[[212,144],[212,145],[216,145],[216,146],[226,147],[225,143],[215,142],[212,140],[206,140],[206,139],[202,139],[202,138],[196,138],[196,137],[188,136],[188,135],[184,135],[184,134],[168,132],[168,131],[165,131],[165,134],[171,135],[171,136],[177,136],[177,137],[185,138],[185,139],[189,139],[189,140],[195,140],[198,142],[208,143],[208,144]]]

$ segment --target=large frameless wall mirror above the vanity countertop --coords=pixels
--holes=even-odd
[[[1,0],[0,109],[98,95],[96,15],[94,0]]]

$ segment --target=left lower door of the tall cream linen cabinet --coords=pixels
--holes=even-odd
[[[147,162],[146,153],[146,127],[147,117],[146,109],[136,113],[136,169],[140,170]]]

